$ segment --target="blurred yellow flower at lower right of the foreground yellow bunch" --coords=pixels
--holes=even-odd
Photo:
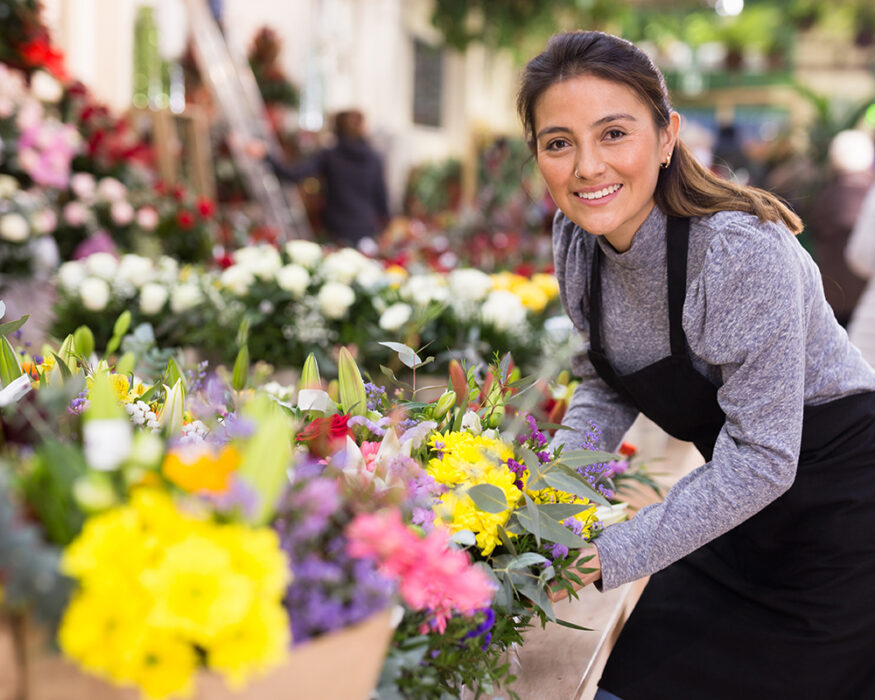
[[[249,613],[210,646],[208,663],[221,671],[232,687],[240,687],[253,672],[283,661],[291,635],[286,611],[256,598]]]

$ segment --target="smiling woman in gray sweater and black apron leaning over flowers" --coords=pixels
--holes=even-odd
[[[613,449],[643,412],[707,460],[595,541],[604,589],[652,574],[601,697],[875,697],[875,371],[798,217],[699,165],[617,37],[554,37],[517,106],[589,341],[566,423]]]

